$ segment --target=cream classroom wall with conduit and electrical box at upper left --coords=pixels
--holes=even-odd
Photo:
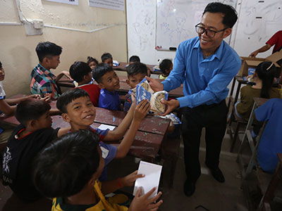
[[[27,19],[41,19],[45,25],[56,25],[78,30],[75,32],[44,27],[42,35],[27,36],[20,23],[15,0],[0,1],[0,60],[6,70],[4,89],[7,96],[29,94],[30,72],[37,65],[35,47],[39,41],[52,41],[63,47],[61,64],[55,74],[68,70],[75,60],[86,61],[93,56],[99,61],[104,52],[110,52],[116,60],[127,60],[125,11],[94,8],[86,0],[79,6],[58,4],[44,0],[19,0],[20,8]]]

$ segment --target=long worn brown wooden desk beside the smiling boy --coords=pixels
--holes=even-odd
[[[52,101],[50,106],[51,108],[56,108],[56,101]],[[96,117],[92,127],[99,127],[100,124],[109,124],[117,127],[124,117],[125,113],[123,111],[96,108]],[[63,121],[61,115],[52,116],[52,120],[53,128],[69,127],[68,122]],[[0,121],[15,127],[20,124],[15,116],[8,117],[2,115]],[[145,117],[140,124],[133,145],[130,147],[129,154],[153,162],[165,138],[169,122],[170,120],[159,117]],[[118,142],[116,143],[118,144]]]

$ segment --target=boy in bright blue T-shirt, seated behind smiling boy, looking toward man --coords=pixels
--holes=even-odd
[[[119,78],[113,68],[106,63],[100,63],[94,68],[92,77],[101,88],[99,108],[122,110],[121,98],[116,91],[120,87]]]

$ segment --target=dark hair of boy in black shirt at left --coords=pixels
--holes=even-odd
[[[18,122],[25,125],[30,120],[38,120],[39,117],[47,113],[51,106],[46,101],[40,101],[35,98],[27,98],[26,100],[18,103],[16,108],[16,118]]]

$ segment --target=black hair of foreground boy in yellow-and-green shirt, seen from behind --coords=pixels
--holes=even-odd
[[[85,187],[100,162],[99,136],[79,130],[45,147],[33,162],[33,182],[47,198],[73,196]]]

